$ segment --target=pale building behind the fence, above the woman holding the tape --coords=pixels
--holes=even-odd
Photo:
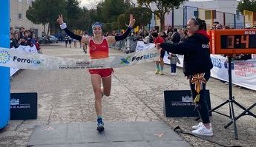
[[[244,27],[244,16],[237,12],[237,0],[189,0],[185,1],[178,9],[165,14],[165,30],[168,25],[180,28],[185,27],[189,18],[194,16],[206,20],[208,28],[213,21],[219,21],[220,24],[228,25],[234,28]],[[151,7],[157,9],[155,4]],[[212,18],[211,10],[214,10]],[[155,26],[160,26],[160,19],[154,17]]]

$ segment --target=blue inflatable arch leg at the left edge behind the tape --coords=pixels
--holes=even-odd
[[[10,0],[1,0],[0,6],[0,47],[10,48]],[[7,126],[9,119],[10,68],[0,66],[0,129]]]

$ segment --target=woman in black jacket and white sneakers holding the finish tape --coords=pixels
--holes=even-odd
[[[159,48],[174,54],[184,55],[183,72],[189,78],[191,95],[200,114],[202,123],[192,126],[193,134],[212,136],[209,108],[206,103],[206,82],[209,80],[213,65],[210,58],[209,35],[206,21],[191,18],[187,24],[188,38],[180,44],[163,43]]]

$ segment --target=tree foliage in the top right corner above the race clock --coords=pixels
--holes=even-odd
[[[243,10],[249,10],[256,12],[256,1],[250,1],[250,0],[243,0],[239,1],[237,5],[237,10],[239,10],[240,13],[243,14]]]

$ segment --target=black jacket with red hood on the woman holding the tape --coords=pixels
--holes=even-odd
[[[162,49],[174,54],[184,55],[183,72],[187,75],[209,72],[213,65],[210,58],[209,36],[200,30],[180,44],[163,43]]]

